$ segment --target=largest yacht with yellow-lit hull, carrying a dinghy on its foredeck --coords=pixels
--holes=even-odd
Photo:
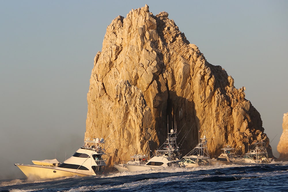
[[[59,163],[57,159],[32,161],[34,165],[14,164],[28,177],[55,179],[60,177],[92,176],[102,174],[106,166],[103,138],[85,140],[72,157]]]

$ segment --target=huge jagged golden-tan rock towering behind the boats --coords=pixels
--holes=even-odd
[[[223,145],[244,153],[254,140],[269,144],[244,91],[205,60],[168,13],[154,16],[145,5],[107,27],[90,78],[85,139],[107,138],[107,163],[113,164],[152,155],[175,120],[184,155],[198,143],[198,129],[212,155]]]

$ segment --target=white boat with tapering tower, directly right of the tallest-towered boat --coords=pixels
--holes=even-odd
[[[182,157],[179,165],[186,168],[211,165],[207,149],[207,138],[205,135],[203,138],[200,138],[199,143],[194,149],[192,149],[192,151]]]

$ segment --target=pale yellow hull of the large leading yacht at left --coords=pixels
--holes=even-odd
[[[91,174],[83,174],[79,172],[72,172],[69,170],[61,170],[58,167],[52,166],[37,166],[37,165],[20,165],[15,164],[28,178],[35,179],[55,179],[61,177],[73,176],[89,176]]]

